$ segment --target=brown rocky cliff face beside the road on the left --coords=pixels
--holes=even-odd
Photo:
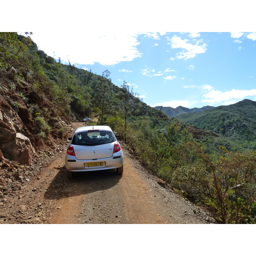
[[[40,120],[47,125],[47,131],[42,131]],[[30,166],[33,156],[55,149],[67,137],[69,121],[44,95],[32,90],[32,84],[22,79],[10,80],[0,73],[2,165],[5,160],[12,160]],[[47,137],[43,136],[45,132]]]

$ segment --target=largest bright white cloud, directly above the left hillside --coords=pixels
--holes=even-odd
[[[68,35],[68,36],[67,36]],[[32,40],[53,58],[77,64],[113,65],[122,61],[132,61],[140,58],[142,53],[136,48],[139,45],[137,34],[100,32],[80,33],[76,40],[76,32],[58,32],[56,30],[45,33],[33,32]],[[49,40],[50,38],[50,40]],[[73,45],[73,47],[70,47]]]

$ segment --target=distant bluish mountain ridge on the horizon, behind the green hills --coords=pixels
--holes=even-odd
[[[203,108],[185,108],[182,106],[179,106],[177,108],[172,108],[172,107],[162,107],[162,106],[156,106],[155,107],[157,110],[161,110],[163,113],[165,113],[169,117],[175,117],[183,113],[199,113],[202,111],[205,111],[207,109],[214,108],[212,106],[204,106]]]

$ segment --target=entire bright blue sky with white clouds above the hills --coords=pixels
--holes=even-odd
[[[126,81],[152,107],[256,100],[256,32],[47,34],[32,35],[47,55],[98,75],[108,69],[113,84]]]

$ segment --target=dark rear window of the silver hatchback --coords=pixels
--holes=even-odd
[[[95,146],[112,143],[116,140],[111,131],[84,131],[76,133],[72,139],[73,145]]]

